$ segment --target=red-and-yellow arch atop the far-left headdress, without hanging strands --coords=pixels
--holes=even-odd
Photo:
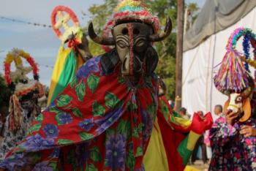
[[[22,58],[26,59],[31,67],[23,66]],[[11,72],[12,62],[15,63],[15,72]],[[4,79],[7,85],[9,86],[15,80],[26,80],[26,75],[29,74],[29,72],[33,72],[34,77],[38,78],[39,69],[34,58],[23,50],[17,48],[12,49],[4,60]]]

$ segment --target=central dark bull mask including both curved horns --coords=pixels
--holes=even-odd
[[[140,21],[118,23],[112,29],[113,37],[99,37],[93,24],[89,25],[89,36],[100,45],[115,45],[124,76],[150,75],[157,67],[158,56],[152,42],[165,39],[171,32],[171,21],[167,18],[165,31],[154,34],[150,25]]]

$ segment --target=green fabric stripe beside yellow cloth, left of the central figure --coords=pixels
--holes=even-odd
[[[56,84],[56,88],[53,91],[53,96],[50,99],[50,102],[53,102],[54,99],[64,90],[65,87],[72,81],[72,77],[75,75],[77,59],[75,57],[74,50],[71,50],[67,59],[65,61],[61,76],[59,81]]]

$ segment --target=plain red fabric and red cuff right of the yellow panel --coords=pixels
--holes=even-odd
[[[168,107],[168,114],[172,115],[170,105],[168,104],[165,96],[159,97],[157,121],[161,130],[162,141],[165,146],[168,167],[169,170],[171,171],[183,171],[186,165],[184,165],[182,157],[177,151],[178,146],[187,137],[189,132],[203,134],[203,132],[205,132],[207,129],[210,129],[213,123],[211,113],[207,113],[204,116],[205,119],[200,118],[200,116],[197,113],[195,113],[192,119],[192,124],[185,128],[183,126],[178,126],[172,121],[170,121],[170,117],[165,118],[165,115],[167,115],[167,111],[162,110],[161,106],[163,105]]]

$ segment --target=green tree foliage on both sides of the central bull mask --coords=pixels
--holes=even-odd
[[[167,86],[167,98],[174,99],[175,97],[175,67],[176,67],[176,18],[177,18],[177,1],[176,0],[144,0],[153,15],[156,15],[161,23],[165,26],[165,20],[169,16],[173,23],[173,32],[162,42],[155,43],[157,53],[159,55],[159,64],[157,66],[157,75],[162,77]],[[94,22],[94,28],[97,28],[98,33],[102,33],[102,28],[106,21],[113,14],[113,9],[118,4],[117,0],[105,0],[103,4],[94,4],[89,8],[91,18]],[[91,53],[99,55],[104,53],[99,45],[90,41]]]

